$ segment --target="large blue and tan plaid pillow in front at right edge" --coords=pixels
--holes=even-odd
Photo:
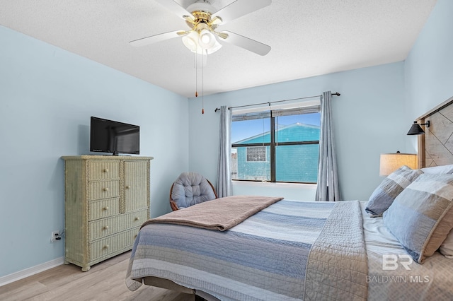
[[[453,175],[420,175],[383,214],[384,225],[423,264],[453,228]]]

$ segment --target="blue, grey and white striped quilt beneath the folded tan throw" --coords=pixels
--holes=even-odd
[[[149,223],[127,287],[149,276],[219,300],[366,300],[360,204],[283,199],[222,232]]]

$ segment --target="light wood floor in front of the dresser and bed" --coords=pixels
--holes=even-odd
[[[142,285],[131,292],[125,285],[130,252],[91,266],[82,272],[73,264],[50,268],[28,278],[0,286],[0,300],[152,300],[193,301],[194,295]]]

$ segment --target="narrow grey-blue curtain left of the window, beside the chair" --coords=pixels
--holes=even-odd
[[[231,111],[220,107],[219,165],[217,168],[217,196],[231,196]]]

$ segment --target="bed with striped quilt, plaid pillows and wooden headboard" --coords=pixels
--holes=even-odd
[[[436,124],[451,102],[418,120]],[[440,135],[432,129],[419,145],[432,145],[420,142]],[[435,153],[386,177],[368,201],[231,196],[152,219],[127,287],[206,300],[451,300],[453,163]]]

